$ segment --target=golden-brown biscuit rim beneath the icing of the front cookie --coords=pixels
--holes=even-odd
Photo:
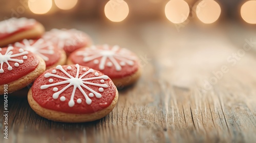
[[[54,111],[41,107],[32,97],[32,89],[30,88],[28,93],[28,102],[30,107],[40,116],[47,118],[48,120],[57,122],[67,122],[67,123],[81,123],[81,122],[91,122],[99,120],[100,118],[108,115],[116,106],[118,100],[118,91],[116,89],[116,96],[109,107],[90,114],[72,114],[64,113],[60,111]]]

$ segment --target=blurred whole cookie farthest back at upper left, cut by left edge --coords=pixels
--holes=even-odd
[[[23,40],[37,39],[45,28],[35,19],[10,18],[0,22],[0,47]]]

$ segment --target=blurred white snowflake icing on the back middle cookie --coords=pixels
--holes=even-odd
[[[46,32],[43,38],[57,43],[60,49],[63,49],[65,46],[75,46],[76,44],[87,40],[87,37],[85,37],[81,31],[76,29],[52,29],[51,31]]]

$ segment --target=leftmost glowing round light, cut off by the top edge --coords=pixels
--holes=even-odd
[[[45,14],[52,8],[52,0],[29,0],[28,4],[35,14]]]

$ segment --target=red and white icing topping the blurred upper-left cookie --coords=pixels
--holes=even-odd
[[[20,19],[23,19],[23,21],[21,21]],[[7,32],[1,33],[0,32],[0,40],[4,40],[6,38],[9,38],[10,36],[13,36],[17,33],[23,32],[23,31],[33,29],[38,24],[38,22],[36,22],[36,21],[31,22],[31,20],[33,20],[33,19],[26,19],[26,18],[16,19],[16,18],[14,18],[14,19],[8,19],[5,21],[1,21],[1,22],[3,22],[1,26],[14,27],[17,29],[11,33],[7,33]],[[20,22],[23,22],[23,23],[20,23]]]

